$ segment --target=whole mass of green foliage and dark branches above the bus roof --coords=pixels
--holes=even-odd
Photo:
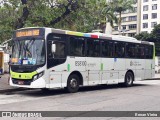
[[[27,2],[26,2],[27,1]],[[3,0],[0,4],[0,41],[21,27],[53,27],[91,32],[105,24],[106,0]],[[108,15],[109,16],[109,15]],[[112,17],[108,17],[111,21]]]

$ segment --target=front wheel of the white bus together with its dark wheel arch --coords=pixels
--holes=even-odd
[[[75,93],[79,89],[79,85],[83,85],[83,77],[78,71],[72,72],[67,80],[67,91]]]

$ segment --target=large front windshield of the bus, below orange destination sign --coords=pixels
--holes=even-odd
[[[44,40],[13,40],[11,64],[42,65],[45,63]]]

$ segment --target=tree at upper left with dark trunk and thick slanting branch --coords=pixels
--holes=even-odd
[[[82,0],[3,0],[0,4],[0,39],[27,26],[52,27],[75,12]]]

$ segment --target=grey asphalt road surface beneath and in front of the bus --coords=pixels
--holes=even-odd
[[[83,87],[78,93],[72,94],[64,90],[51,90],[44,93],[39,89],[5,92],[0,94],[0,111],[83,111],[83,115],[88,114],[85,111],[160,111],[160,80],[138,81],[129,88],[118,85]],[[93,116],[96,116],[96,113]],[[1,119],[9,120],[5,117]],[[113,117],[98,118],[45,118],[47,119],[159,120],[160,118],[114,117],[113,115]]]

